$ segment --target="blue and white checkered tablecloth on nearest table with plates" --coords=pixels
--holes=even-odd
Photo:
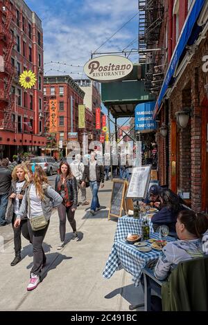
[[[151,238],[158,239],[157,233],[150,234]],[[167,236],[167,241],[175,241],[174,238]],[[150,243],[148,243],[150,245]],[[135,286],[139,286],[142,269],[147,265],[151,268],[159,258],[161,251],[150,250],[150,252],[139,252],[135,245],[128,244],[125,240],[114,241],[112,252],[107,260],[103,277],[110,279],[116,270],[124,268],[133,278]]]

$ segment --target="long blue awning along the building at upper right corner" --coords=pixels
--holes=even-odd
[[[187,17],[187,21],[184,24],[184,27],[180,34],[180,37],[177,41],[177,46],[175,46],[175,50],[171,57],[171,62],[168,66],[168,70],[166,72],[166,76],[165,76],[164,82],[162,84],[162,89],[159,93],[157,102],[155,104],[155,109],[154,109],[154,113],[153,113],[154,118],[157,115],[159,106],[162,103],[162,98],[164,97],[166,90],[168,89],[168,85],[171,81],[171,78],[173,77],[177,63],[180,60],[180,57],[184,51],[184,48],[187,46],[189,38],[191,37],[193,26],[196,24],[196,20],[198,19],[198,16],[199,16],[200,11],[202,10],[202,6],[204,4],[205,4],[205,0],[195,0],[195,3],[193,4],[193,7],[191,9],[191,12],[189,13],[189,16]]]

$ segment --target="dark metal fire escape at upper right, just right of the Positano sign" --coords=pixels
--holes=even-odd
[[[155,94],[159,92],[164,80],[164,50],[157,50],[163,21],[164,1],[139,0],[139,50],[153,49],[139,55],[139,63],[146,66],[146,91]]]

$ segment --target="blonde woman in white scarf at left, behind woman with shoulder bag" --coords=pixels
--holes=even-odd
[[[14,231],[15,259],[10,263],[11,266],[15,266],[21,261],[21,234],[30,241],[26,214],[22,216],[19,227],[14,227],[17,213],[21,207],[21,200],[28,186],[28,181],[29,177],[26,165],[22,163],[21,165],[15,166],[12,171],[12,184],[9,192],[9,198],[12,200],[12,203],[7,214],[7,219],[12,221],[12,228]]]

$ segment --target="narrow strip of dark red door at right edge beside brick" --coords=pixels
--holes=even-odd
[[[208,212],[208,106],[202,107],[202,211]]]

